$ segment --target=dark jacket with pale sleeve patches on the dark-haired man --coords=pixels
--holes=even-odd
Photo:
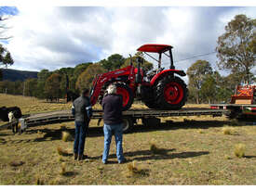
[[[74,115],[74,121],[89,121],[92,109],[87,96],[79,96],[74,100],[72,114]]]

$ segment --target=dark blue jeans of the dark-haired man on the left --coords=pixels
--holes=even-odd
[[[88,122],[74,121],[74,153],[82,156],[84,154],[86,135],[88,134]]]

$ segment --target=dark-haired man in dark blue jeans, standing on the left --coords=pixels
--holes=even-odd
[[[74,115],[74,159],[85,159],[84,155],[86,135],[88,134],[88,123],[92,116],[92,108],[88,98],[88,89],[82,91],[82,95],[76,98],[72,106]]]

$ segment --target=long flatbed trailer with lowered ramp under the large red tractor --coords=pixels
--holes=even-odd
[[[141,119],[144,126],[158,125],[159,118],[165,117],[180,117],[180,116],[201,116],[209,115],[212,117],[220,117],[228,115],[227,109],[210,109],[210,108],[182,108],[180,110],[155,110],[155,109],[129,109],[123,112],[124,118],[124,132],[129,132],[135,123]],[[92,119],[101,120],[103,116],[102,110],[94,110]],[[27,127],[34,127],[38,125],[59,123],[64,121],[74,121],[74,116],[71,110],[59,110],[47,113],[31,114],[30,116],[23,116]],[[0,126],[0,130],[8,128],[8,125]]]

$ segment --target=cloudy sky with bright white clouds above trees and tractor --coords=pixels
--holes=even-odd
[[[6,46],[15,60],[10,68],[17,70],[57,70],[115,53],[128,57],[152,43],[174,46],[178,61],[213,52],[237,14],[256,18],[255,6],[1,6],[0,12],[12,15]],[[217,70],[215,54],[176,68],[186,71],[197,59]]]

